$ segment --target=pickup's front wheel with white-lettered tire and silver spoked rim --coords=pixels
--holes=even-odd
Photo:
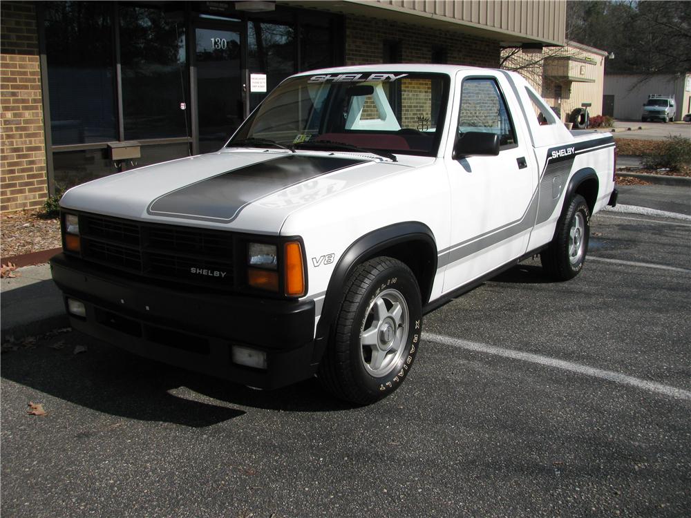
[[[413,272],[379,257],[345,283],[336,329],[319,365],[319,381],[339,399],[367,405],[408,377],[422,332],[422,298]]]

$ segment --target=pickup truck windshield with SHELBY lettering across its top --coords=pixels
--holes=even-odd
[[[287,79],[227,146],[372,150],[434,155],[441,138],[448,76],[332,73]]]

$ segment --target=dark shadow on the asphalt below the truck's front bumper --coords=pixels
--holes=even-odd
[[[78,345],[86,346],[86,352],[75,354]],[[240,407],[294,412],[352,408],[325,394],[314,378],[258,391],[140,358],[78,332],[3,353],[0,374],[3,384],[9,380],[104,414],[193,428],[243,416],[247,408]],[[27,395],[32,401],[41,396]]]

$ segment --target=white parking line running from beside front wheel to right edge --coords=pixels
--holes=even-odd
[[[576,374],[583,374],[591,378],[600,378],[607,381],[613,381],[620,385],[628,385],[639,389],[655,392],[656,394],[663,394],[674,399],[683,399],[691,401],[691,392],[670,385],[663,385],[662,383],[655,383],[654,381],[647,381],[641,378],[634,378],[621,374],[621,372],[614,372],[610,370],[597,369],[596,367],[588,367],[580,363],[572,363],[570,361],[558,360],[557,358],[550,358],[549,356],[542,356],[540,354],[533,354],[529,352],[514,351],[513,349],[504,349],[503,347],[496,347],[486,343],[469,342],[468,340],[460,340],[452,338],[451,336],[444,336],[441,334],[424,333],[422,338],[430,342],[440,343],[442,345],[450,345],[451,347],[460,347],[461,349],[468,349],[470,351],[482,352],[486,354],[494,354],[495,356],[503,356],[504,358],[511,358],[513,360],[528,361],[530,363],[538,363],[539,365],[546,365],[547,367],[556,367],[557,369],[567,370],[569,372],[576,372]]]

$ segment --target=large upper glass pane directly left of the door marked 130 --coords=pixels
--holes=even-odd
[[[182,11],[120,6],[120,57],[125,140],[189,136]]]

